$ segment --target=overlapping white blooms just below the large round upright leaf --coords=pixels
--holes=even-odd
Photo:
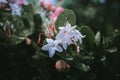
[[[66,50],[67,45],[70,45],[72,43],[80,42],[82,43],[83,36],[78,30],[75,29],[76,26],[72,26],[70,23],[67,23],[65,27],[60,27],[60,32],[56,35],[56,40],[59,40],[63,46],[63,48]]]

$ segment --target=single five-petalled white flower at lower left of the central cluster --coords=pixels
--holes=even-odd
[[[53,40],[53,39],[46,39],[47,43],[42,47],[42,50],[49,51],[49,56],[53,57],[55,54],[55,51],[62,52],[63,49],[58,45],[59,41]]]

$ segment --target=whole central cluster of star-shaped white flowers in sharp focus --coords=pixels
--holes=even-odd
[[[49,56],[53,57],[55,51],[63,52],[67,50],[67,47],[71,44],[77,45],[77,42],[82,43],[82,38],[84,37],[78,30],[75,29],[76,26],[71,26],[67,23],[66,26],[60,27],[60,31],[56,34],[55,40],[51,38],[46,38],[48,44],[44,45],[41,49],[49,51]]]

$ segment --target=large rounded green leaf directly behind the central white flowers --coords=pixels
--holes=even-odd
[[[65,9],[57,18],[56,20],[56,27],[64,26],[67,22],[71,25],[76,24],[76,15],[72,10]]]

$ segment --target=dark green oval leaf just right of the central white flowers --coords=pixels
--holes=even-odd
[[[83,46],[88,51],[92,51],[95,48],[95,34],[89,26],[82,26],[81,33],[86,37],[83,38]]]

